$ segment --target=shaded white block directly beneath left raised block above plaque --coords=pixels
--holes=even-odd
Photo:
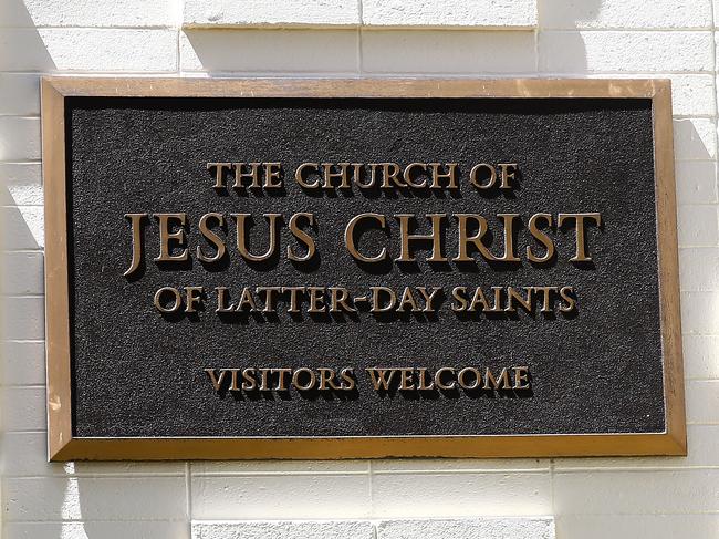
[[[356,72],[356,30],[188,30],[184,71]]]

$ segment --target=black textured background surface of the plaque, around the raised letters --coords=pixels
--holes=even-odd
[[[354,436],[664,431],[652,110],[649,100],[315,100],[70,97],[66,108],[74,435]],[[285,191],[218,195],[208,162],[282,162]],[[291,177],[303,162],[457,162],[451,196],[336,193],[310,196]],[[480,162],[517,162],[514,197],[482,196],[466,178]],[[421,195],[421,196],[420,196]],[[142,276],[126,279],[127,213],[186,211],[189,246],[208,211],[316,216],[319,265],[284,257],[263,268],[233,248],[222,268],[196,259],[159,268],[157,226],[146,227]],[[574,231],[558,231],[556,263],[492,268],[451,263],[368,272],[346,253],[351,216],[375,211],[601,211],[588,229],[594,267],[567,262]],[[253,229],[265,230],[259,217]],[[396,238],[396,224],[390,237]],[[418,231],[428,230],[421,220]],[[457,239],[448,227],[447,250]],[[289,234],[282,232],[282,246]],[[496,237],[496,249],[501,238]],[[385,240],[365,235],[365,241]],[[264,245],[261,237],[258,246]],[[202,242],[202,245],[206,245]],[[397,243],[390,243],[397,255]],[[527,240],[519,243],[523,249]],[[259,249],[259,247],[258,247]],[[418,251],[419,253],[426,251]],[[434,319],[362,313],[292,320],[167,320],[153,308],[164,286],[572,286],[575,317],[520,313]],[[446,300],[448,301],[448,300]],[[211,305],[211,303],[209,303]],[[378,395],[366,366],[529,365],[531,394]],[[220,397],[204,367],[354,366],[358,392]]]

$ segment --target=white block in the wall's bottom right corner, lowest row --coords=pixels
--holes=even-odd
[[[719,515],[567,515],[556,519],[556,537],[570,539],[713,538]]]

